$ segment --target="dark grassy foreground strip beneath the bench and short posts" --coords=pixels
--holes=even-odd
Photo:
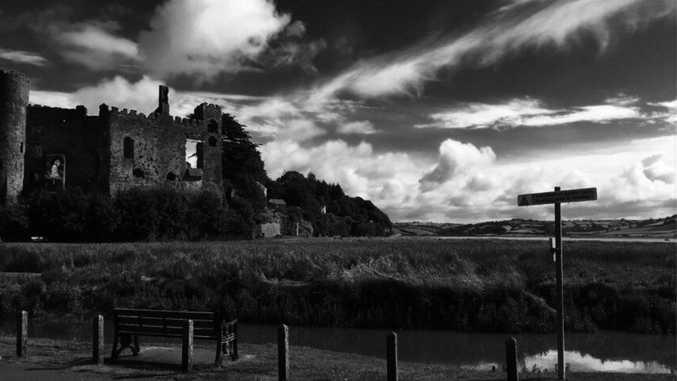
[[[108,348],[110,350],[110,348]],[[15,355],[15,340],[0,337],[0,380],[277,380],[277,348],[241,344],[240,359],[212,366],[214,348],[197,346],[194,372],[180,373],[180,346],[146,346],[139,357],[89,364],[88,343],[32,339],[28,357]],[[291,347],[292,380],[385,380],[384,359]],[[108,360],[108,359],[107,359]],[[505,380],[505,373],[469,371],[439,364],[400,362],[400,380]],[[520,374],[520,380],[554,380],[553,374]],[[674,375],[567,373],[567,380],[675,380]]]

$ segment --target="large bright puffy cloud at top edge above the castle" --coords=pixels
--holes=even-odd
[[[150,31],[139,35],[139,52],[158,78],[237,73],[251,70],[246,62],[290,21],[268,0],[169,0],[155,10]]]

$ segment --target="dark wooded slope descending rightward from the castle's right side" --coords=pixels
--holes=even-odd
[[[232,115],[223,117],[223,183],[229,202],[250,206],[252,223],[260,222],[268,199],[281,198],[291,221],[309,221],[315,235],[375,236],[389,234],[391,221],[370,201],[346,196],[341,185],[327,184],[313,173],[307,177],[289,171],[271,180],[264,169],[258,145],[251,142],[245,126]],[[265,188],[263,187],[265,186]],[[323,210],[325,207],[325,210]]]

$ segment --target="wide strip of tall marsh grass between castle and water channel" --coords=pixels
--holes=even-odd
[[[567,242],[565,325],[676,332],[676,247]],[[218,310],[250,323],[547,332],[543,242],[350,239],[1,244],[0,316]]]

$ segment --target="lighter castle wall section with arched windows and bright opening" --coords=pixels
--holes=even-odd
[[[100,115],[110,131],[110,193],[162,185],[221,194],[221,109],[205,108],[207,120],[173,118],[156,112],[146,117],[117,108],[102,110]],[[218,117],[214,133],[207,127],[212,117]],[[210,137],[215,137],[211,140],[213,146],[209,144]],[[126,139],[132,145],[132,151],[127,153]],[[188,139],[203,144],[202,168],[187,166]]]

